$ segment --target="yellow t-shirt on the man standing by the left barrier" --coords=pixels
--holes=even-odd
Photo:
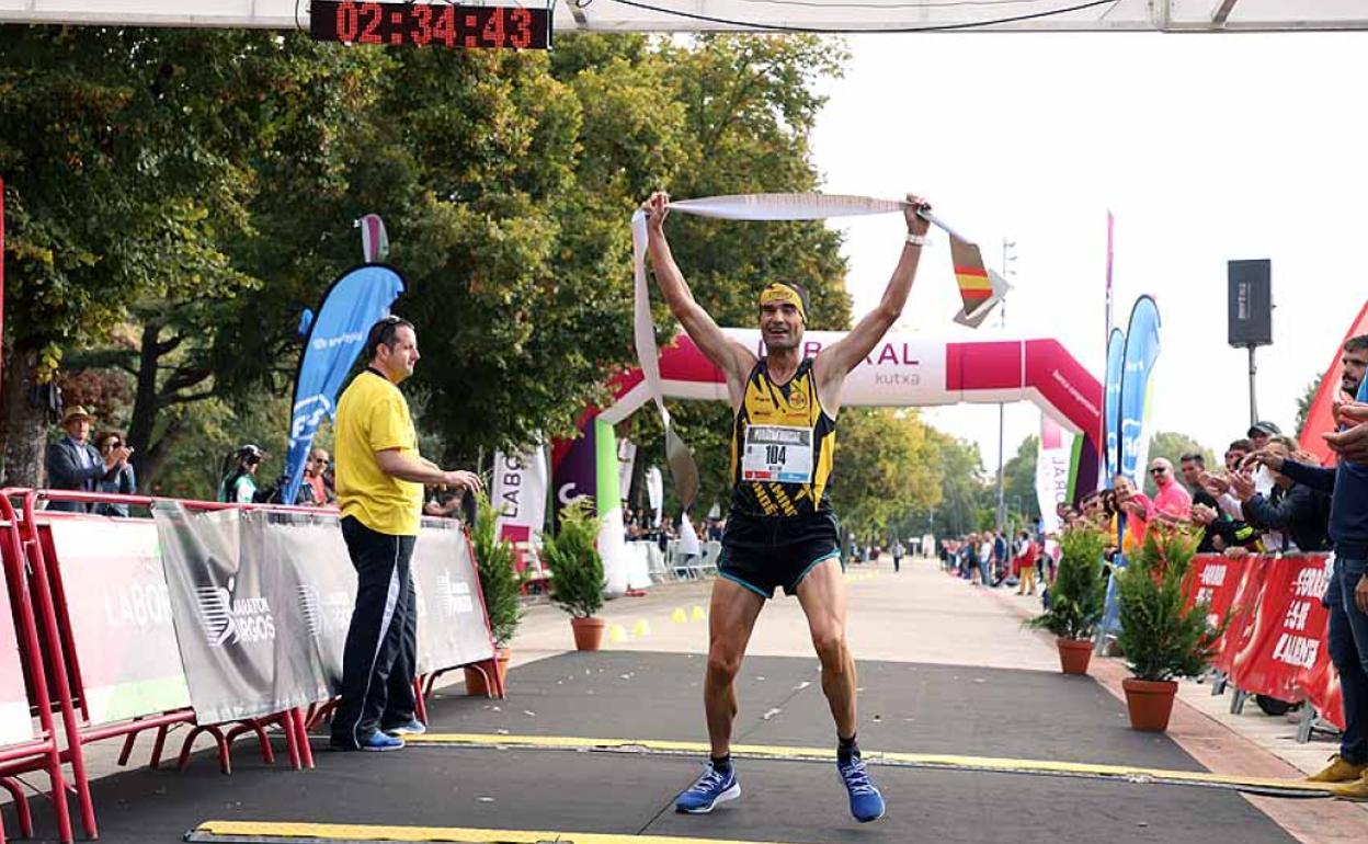
[[[342,516],[354,516],[379,533],[417,536],[423,484],[386,475],[375,460],[376,451],[387,449],[419,457],[417,432],[399,388],[369,369],[352,379],[338,401],[332,449]]]

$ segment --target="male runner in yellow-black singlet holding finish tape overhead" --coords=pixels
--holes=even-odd
[[[736,412],[732,428],[731,513],[722,535],[720,577],[713,584],[703,704],[711,759],[674,803],[685,813],[709,813],[741,793],[732,766],[736,674],[755,620],[774,590],[798,595],[822,663],[822,692],[836,721],[836,767],[856,821],[884,817],[884,797],[870,782],[855,743],[855,661],[845,642],[845,584],[841,580],[836,517],[828,495],[836,446],[841,386],[897,321],[926,243],[930,208],[908,194],[907,242],[878,306],[843,339],[804,358],[807,293],[774,282],[759,295],[763,358],[726,338],[696,302],[674,264],[663,223],[669,197],[657,193],[642,207],[657,283],[670,312],[694,343],[726,376]]]

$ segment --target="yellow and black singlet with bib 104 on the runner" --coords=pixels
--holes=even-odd
[[[803,358],[787,384],[776,384],[761,358],[732,425],[732,513],[830,512],[834,449],[836,420],[817,397],[813,358]]]

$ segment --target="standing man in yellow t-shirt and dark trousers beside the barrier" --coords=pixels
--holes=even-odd
[[[335,451],[342,538],[356,568],[356,609],[342,655],[342,702],[332,715],[338,750],[386,751],[424,732],[415,715],[417,609],[409,559],[423,484],[479,490],[472,472],[445,472],[419,456],[409,404],[398,384],[413,375],[413,324],[387,316],[371,327],[364,372],[338,401]]]

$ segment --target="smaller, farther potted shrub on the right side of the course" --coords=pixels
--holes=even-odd
[[[1092,637],[1103,618],[1107,587],[1103,580],[1103,551],[1107,535],[1078,523],[1059,536],[1059,569],[1049,587],[1049,609],[1026,622],[1049,631],[1059,647],[1059,665],[1066,674],[1086,674],[1093,655]]]

